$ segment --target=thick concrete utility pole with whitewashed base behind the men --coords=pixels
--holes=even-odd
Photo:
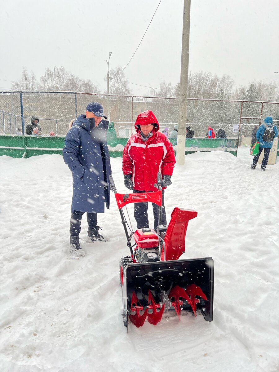
[[[176,160],[183,165],[185,163],[185,135],[187,118],[187,91],[188,91],[188,70],[189,70],[189,36],[190,36],[190,8],[191,0],[184,0],[183,11],[183,33],[181,51],[181,72],[180,72],[180,95],[179,95],[179,117]]]

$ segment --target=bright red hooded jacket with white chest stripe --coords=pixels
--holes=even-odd
[[[154,124],[153,135],[142,140],[140,125]],[[139,191],[158,191],[154,187],[157,183],[157,173],[171,176],[175,164],[173,146],[169,139],[161,132],[158,120],[151,110],[138,115],[135,121],[137,134],[133,134],[124,150],[122,171],[124,175],[132,174],[134,189]],[[166,188],[166,187],[163,187]]]

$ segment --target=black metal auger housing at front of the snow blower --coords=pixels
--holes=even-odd
[[[131,315],[131,307],[134,308],[133,304],[136,302],[135,298],[138,300],[137,305],[142,307],[141,314],[147,309],[149,291],[155,303],[159,304],[162,293],[169,295],[171,289],[176,286],[184,289],[191,297],[191,285],[201,288],[206,296],[206,300],[196,297],[199,300],[196,301],[196,310],[200,310],[205,320],[211,322],[213,320],[214,287],[212,257],[129,264],[124,277],[126,297],[123,298],[124,313],[127,311],[127,317],[125,317],[126,314],[124,317],[128,320]],[[192,306],[184,302],[182,309],[192,311]],[[170,310],[175,309],[172,307]],[[125,322],[124,325],[126,325]]]

